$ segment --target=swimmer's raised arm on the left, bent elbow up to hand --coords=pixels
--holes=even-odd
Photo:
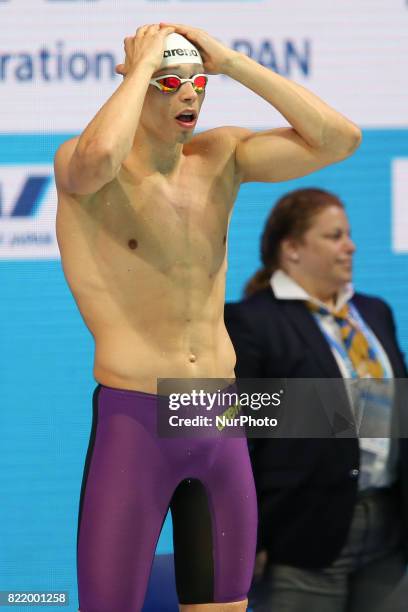
[[[94,193],[116,176],[132,148],[149,81],[160,66],[164,39],[171,32],[171,26],[143,26],[125,38],[125,63],[116,67],[125,77],[123,82],[80,137],[57,151],[55,176],[61,189]]]

